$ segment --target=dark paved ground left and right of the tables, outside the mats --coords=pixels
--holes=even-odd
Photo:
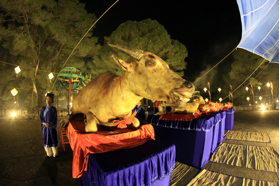
[[[77,179],[72,178],[73,151],[69,144],[62,151],[59,130],[58,127],[59,158],[45,159],[39,119],[0,120],[0,185],[78,185]],[[264,145],[272,146],[279,152],[279,110],[235,112],[233,130],[267,132],[271,143]],[[255,145],[255,142],[252,143]],[[226,171],[229,175],[262,176],[262,171],[255,173],[247,168],[239,170],[211,162],[206,166],[217,172]],[[275,173],[272,179],[278,179],[278,174]]]

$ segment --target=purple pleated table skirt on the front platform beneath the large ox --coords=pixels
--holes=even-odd
[[[90,154],[88,171],[78,178],[79,185],[169,185],[175,157],[175,145],[158,140],[115,152]]]

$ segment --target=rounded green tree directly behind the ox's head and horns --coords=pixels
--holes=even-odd
[[[126,21],[120,24],[109,37],[105,37],[100,55],[95,57],[92,63],[88,64],[92,69],[91,74],[93,77],[107,71],[117,75],[121,75],[124,72],[110,58],[111,53],[115,53],[117,57],[124,61],[133,60],[119,51],[112,50],[107,45],[108,42],[152,52],[161,57],[169,65],[170,69],[176,71],[180,76],[184,75],[183,70],[186,69],[187,64],[184,60],[188,56],[186,47],[177,40],[170,39],[170,35],[165,28],[156,20]]]

